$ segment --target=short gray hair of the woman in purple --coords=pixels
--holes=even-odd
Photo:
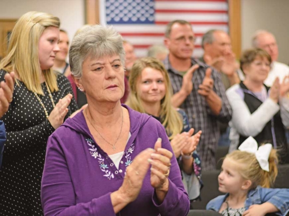
[[[92,25],[77,33],[69,49],[71,74],[76,78],[82,76],[82,64],[88,57],[102,58],[119,55],[125,65],[126,53],[123,38],[112,26]]]

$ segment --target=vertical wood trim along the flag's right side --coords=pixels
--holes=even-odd
[[[241,0],[228,0],[229,4],[229,34],[232,40],[232,49],[239,59],[242,52],[241,38]]]

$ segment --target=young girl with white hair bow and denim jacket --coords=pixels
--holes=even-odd
[[[272,189],[278,174],[277,152],[271,144],[259,147],[253,137],[228,154],[218,177],[219,191],[226,193],[211,200],[206,209],[223,216],[286,216],[289,189]]]

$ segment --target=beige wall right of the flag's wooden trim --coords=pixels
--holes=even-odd
[[[241,0],[242,50],[251,47],[258,29],[272,32],[279,47],[278,61],[289,63],[289,0]]]

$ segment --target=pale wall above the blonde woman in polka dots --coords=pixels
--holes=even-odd
[[[42,11],[60,18],[61,28],[70,40],[85,24],[84,0],[0,0],[0,19],[17,19],[28,11]]]

